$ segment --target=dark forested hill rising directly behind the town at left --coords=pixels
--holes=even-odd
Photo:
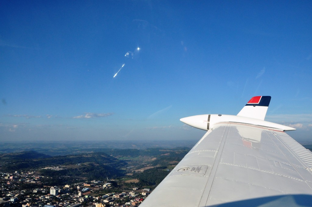
[[[66,155],[66,156],[48,156],[40,154],[34,151],[9,153],[0,155],[1,171],[12,172],[30,169],[40,169],[50,166],[71,166],[66,172],[50,172],[55,175],[68,175],[68,176],[80,176],[86,173],[90,175],[120,175],[123,171],[117,170],[127,163],[125,161],[118,160],[112,156],[107,155],[104,152],[96,153],[83,153],[78,155]],[[75,167],[73,167],[75,166]],[[43,174],[48,174],[50,170],[41,171]],[[95,173],[95,171],[101,171]],[[90,176],[89,176],[90,177]]]

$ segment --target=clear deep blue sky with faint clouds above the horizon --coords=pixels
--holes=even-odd
[[[272,96],[267,121],[312,140],[311,11],[311,1],[2,0],[0,140],[200,139],[179,119],[236,115],[255,95]]]

